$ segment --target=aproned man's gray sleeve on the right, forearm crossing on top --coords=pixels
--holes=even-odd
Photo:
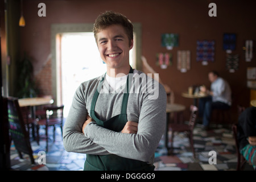
[[[123,134],[90,122],[85,136],[111,154],[148,162],[162,138],[166,123],[166,92],[159,84],[157,99],[143,98],[137,134]]]

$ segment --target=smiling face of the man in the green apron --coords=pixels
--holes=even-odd
[[[99,31],[96,42],[101,59],[108,68],[127,68],[133,40],[130,45],[125,29],[121,25],[113,24]]]

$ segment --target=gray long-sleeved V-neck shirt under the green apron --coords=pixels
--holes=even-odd
[[[63,142],[68,152],[82,154],[115,154],[125,158],[154,163],[154,152],[163,135],[166,122],[166,92],[159,82],[144,73],[134,70],[134,82],[130,89],[127,104],[127,120],[138,122],[137,134],[124,134],[98,126],[90,122],[82,133],[86,115],[97,85],[104,75],[83,82],[77,88],[67,120],[64,124]],[[141,83],[138,81],[141,80]],[[110,92],[104,80],[96,102],[95,112],[98,119],[105,121],[121,113],[122,92]],[[124,88],[124,86],[123,86]],[[119,91],[120,91],[119,90]]]

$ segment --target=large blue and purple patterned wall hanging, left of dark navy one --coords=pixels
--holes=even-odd
[[[208,65],[208,61],[214,61],[215,41],[197,40],[196,61],[201,61],[203,65]]]

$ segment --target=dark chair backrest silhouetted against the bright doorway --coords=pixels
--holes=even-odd
[[[64,105],[46,106],[44,107],[44,110],[46,111],[47,121],[49,121],[49,119],[57,119],[56,121],[63,122]]]

